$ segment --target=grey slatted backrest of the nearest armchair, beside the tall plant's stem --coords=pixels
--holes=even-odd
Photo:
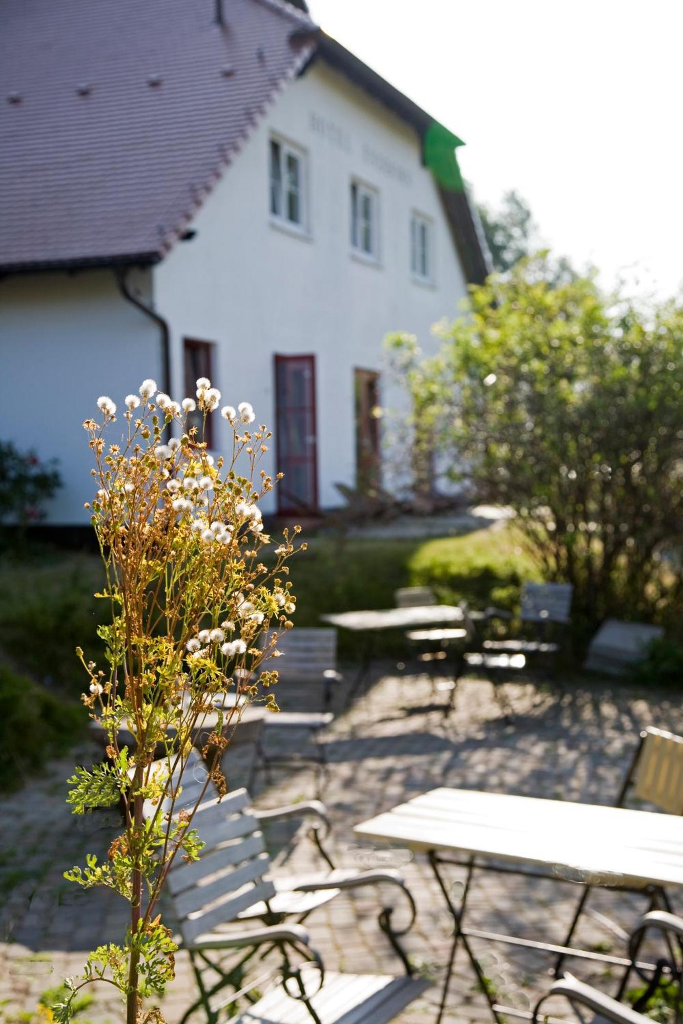
[[[165,761],[155,765],[157,770],[167,771]],[[174,815],[194,808],[205,778],[204,763],[193,752],[183,775],[183,792],[173,804]],[[213,786],[207,788],[192,819],[192,827],[204,843],[199,860],[188,864],[178,855],[168,872],[168,892],[186,944],[275,895],[267,878],[271,862],[264,835],[258,820],[249,813],[249,794],[235,790],[218,800],[214,793]],[[165,801],[162,811],[169,810],[170,804],[170,800]],[[147,816],[156,809],[146,801]]]

